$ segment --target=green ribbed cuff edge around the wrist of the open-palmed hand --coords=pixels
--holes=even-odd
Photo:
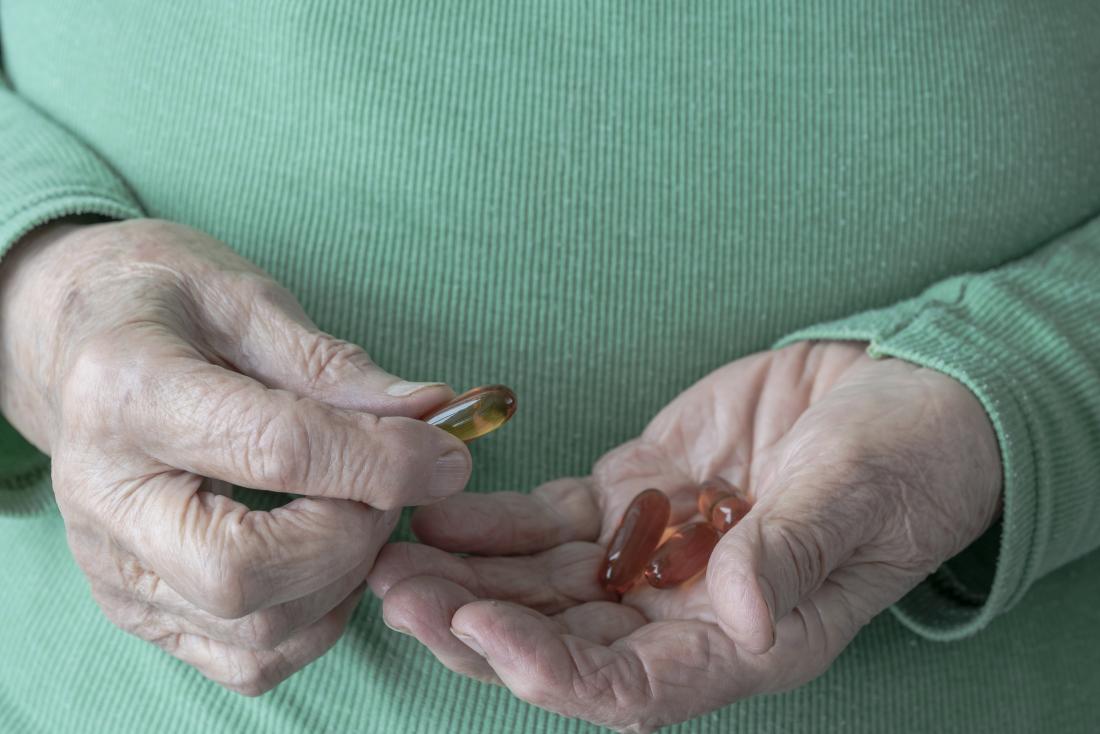
[[[934,291],[960,297],[965,284],[948,281]],[[802,340],[867,341],[871,357],[894,357],[947,374],[970,388],[985,407],[1001,450],[1002,517],[987,536],[892,607],[919,634],[952,640],[978,632],[1023,595],[1036,577],[1036,559],[1042,557],[1036,546],[1047,537],[1041,524],[1050,512],[1041,506],[1036,492],[1034,450],[1026,407],[1013,385],[1012,354],[958,318],[949,303],[928,299],[930,295],[935,294],[802,329],[776,347]],[[987,554],[991,544],[997,550]]]

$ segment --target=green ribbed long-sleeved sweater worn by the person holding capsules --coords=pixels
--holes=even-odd
[[[1003,521],[821,679],[682,731],[1096,731],[1096,0],[0,0],[0,252],[73,212],[210,232],[387,369],[514,386],[472,491],[585,473],[782,340],[963,381]],[[2,432],[0,731],[588,728],[374,600],[221,690],[99,613]]]

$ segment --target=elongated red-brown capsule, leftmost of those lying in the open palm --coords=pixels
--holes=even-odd
[[[600,568],[597,581],[604,589],[622,594],[634,584],[661,541],[671,514],[672,503],[660,490],[646,490],[634,499]]]

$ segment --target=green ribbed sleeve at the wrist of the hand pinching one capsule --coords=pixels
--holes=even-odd
[[[0,76],[0,259],[31,229],[78,213],[124,219],[142,210],[105,161]],[[48,479],[46,457],[0,418],[0,514],[48,507]]]

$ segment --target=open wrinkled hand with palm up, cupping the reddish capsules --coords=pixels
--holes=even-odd
[[[685,522],[690,485],[714,474],[755,505],[705,578],[604,592],[597,568],[630,500],[663,489]],[[430,545],[387,546],[370,583],[387,624],[451,669],[648,731],[821,675],[989,527],[1000,486],[992,426],[963,385],[802,342],[714,372],[590,478],[419,510]]]

